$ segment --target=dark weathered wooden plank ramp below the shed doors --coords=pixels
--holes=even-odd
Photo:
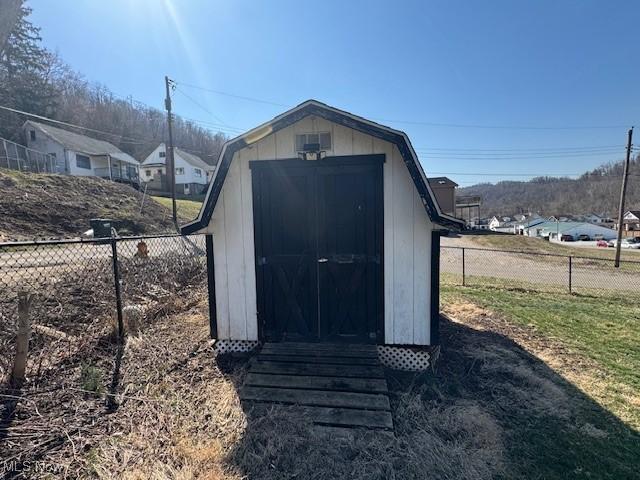
[[[375,345],[267,343],[250,361],[239,394],[248,414],[281,404],[323,428],[393,429]]]

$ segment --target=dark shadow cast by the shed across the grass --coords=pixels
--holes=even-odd
[[[395,437],[246,410],[225,463],[255,479],[637,478],[640,435],[508,337],[442,319],[435,371],[389,371]],[[242,375],[234,368],[235,388]]]

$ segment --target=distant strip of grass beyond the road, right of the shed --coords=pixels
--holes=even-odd
[[[481,248],[495,248],[498,250],[514,250],[523,252],[553,253],[556,255],[575,255],[582,257],[594,257],[613,259],[613,248],[582,248],[571,246],[570,243],[547,242],[540,238],[525,237],[523,235],[464,235],[463,238],[473,241]],[[621,251],[623,260],[640,261],[640,252],[628,250]]]

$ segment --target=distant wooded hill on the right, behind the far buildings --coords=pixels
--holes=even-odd
[[[631,163],[626,209],[640,209],[640,157]],[[528,182],[482,183],[458,189],[458,195],[480,195],[483,215],[533,212],[541,215],[606,212],[615,215],[620,202],[622,163],[604,165],[577,179],[540,177]]]

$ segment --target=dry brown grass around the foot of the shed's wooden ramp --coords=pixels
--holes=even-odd
[[[286,407],[245,412],[237,395],[244,364],[213,362],[203,310],[129,340],[123,398],[111,420],[117,434],[86,456],[98,477],[417,479],[430,472],[479,480],[501,471],[495,418],[469,401],[425,404],[425,385],[394,395],[395,436],[336,435]]]

